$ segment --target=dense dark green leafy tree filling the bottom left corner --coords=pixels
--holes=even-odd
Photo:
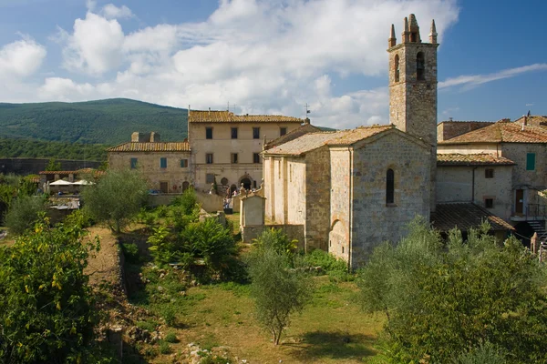
[[[49,228],[0,248],[0,362],[85,362],[96,319],[83,272],[98,241],[78,226]]]

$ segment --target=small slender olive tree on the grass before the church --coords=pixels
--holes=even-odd
[[[266,231],[257,240],[272,238]],[[280,251],[282,244],[259,244],[249,258],[251,295],[254,298],[257,319],[272,333],[274,345],[279,345],[290,317],[300,312],[311,294],[312,282],[302,269],[294,269],[293,259]]]

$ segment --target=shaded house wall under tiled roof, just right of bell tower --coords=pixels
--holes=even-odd
[[[486,177],[486,169],[493,169],[493,178]],[[443,166],[437,168],[437,177],[439,203],[474,202],[486,208],[486,198],[493,198],[493,207],[488,208],[490,212],[506,221],[510,220],[512,166]]]

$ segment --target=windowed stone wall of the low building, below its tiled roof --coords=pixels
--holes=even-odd
[[[167,158],[167,167],[160,166],[161,157]],[[160,182],[167,182],[169,193],[179,193],[191,185],[190,152],[111,152],[108,153],[108,168],[128,169],[131,158],[137,158],[137,169],[152,189],[160,190]],[[188,167],[181,167],[181,159],[188,160]]]

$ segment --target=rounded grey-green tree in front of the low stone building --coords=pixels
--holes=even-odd
[[[82,199],[89,216],[120,232],[139,214],[148,198],[147,182],[129,169],[108,171],[96,185],[86,187]]]

